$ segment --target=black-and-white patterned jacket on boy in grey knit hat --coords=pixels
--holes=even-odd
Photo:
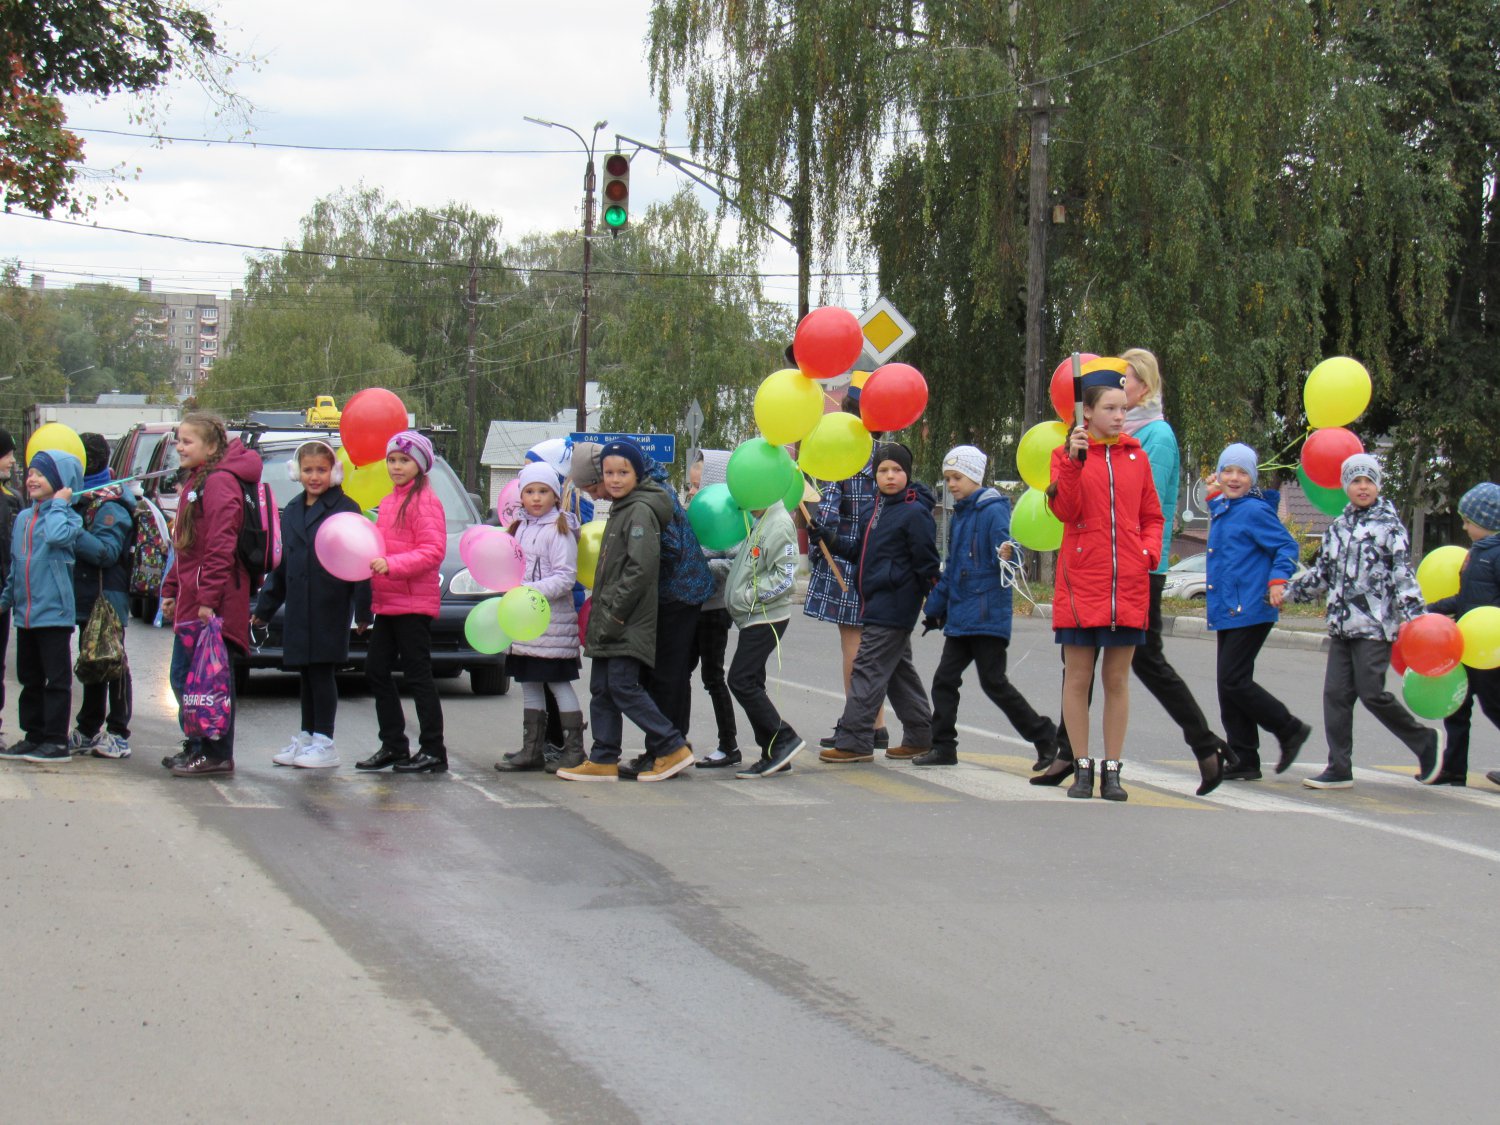
[[[1348,640],[1395,640],[1401,626],[1426,612],[1412,542],[1389,500],[1347,504],[1308,572],[1287,584],[1287,598],[1310,602],[1324,590],[1328,633]]]

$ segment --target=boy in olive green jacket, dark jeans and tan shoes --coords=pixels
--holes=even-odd
[[[578,447],[573,471],[579,471]],[[628,440],[600,447],[598,474],[598,486],[612,506],[594,570],[594,608],[584,645],[594,662],[590,670],[594,746],[586,762],[558,770],[556,776],[567,782],[618,782],[622,718],[628,716],[646,735],[648,760],[640,764],[636,778],[664,782],[693,764],[693,747],[640,682],[657,654],[662,530],[672,519],[672,498],[646,476],[645,456]]]

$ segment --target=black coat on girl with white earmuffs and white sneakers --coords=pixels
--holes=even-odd
[[[280,513],[282,561],[266,576],[255,616],[270,621],[282,606],[282,666],[342,664],[350,658],[350,621],[370,620],[370,584],[345,582],[318,561],[318,528],[339,512],[360,506],[334,484],[308,502],[298,492]]]

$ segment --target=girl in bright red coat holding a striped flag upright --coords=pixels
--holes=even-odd
[[[1146,452],[1124,434],[1125,363],[1096,360],[1094,366],[1096,369],[1083,376],[1084,424],[1053,453],[1047,489],[1052,510],[1064,526],[1052,626],[1062,645],[1062,714],[1076,759],[1054,762],[1047,774],[1060,782],[1077,770],[1068,796],[1094,796],[1089,688],[1095,662],[1102,656],[1100,796],[1124,801],[1120,752],[1130,718],[1130,666],[1136,645],[1146,639],[1148,574],[1161,558],[1162,516]]]

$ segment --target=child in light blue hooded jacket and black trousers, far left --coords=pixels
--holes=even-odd
[[[4,758],[68,762],[74,668],[74,543],[82,519],[72,508],[82,465],[72,453],[39,452],[26,474],[32,507],[10,528],[10,576],[0,610],[15,610],[16,720],[22,738]]]

